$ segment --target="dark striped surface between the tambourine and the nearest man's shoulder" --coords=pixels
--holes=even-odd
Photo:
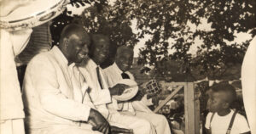
[[[36,54],[49,51],[52,47],[50,22],[32,28],[32,35],[26,48],[16,58],[16,65],[27,64]]]

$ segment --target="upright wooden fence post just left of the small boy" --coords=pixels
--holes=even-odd
[[[184,103],[185,103],[185,133],[199,134],[199,101],[195,100],[194,83],[188,82],[184,87]]]

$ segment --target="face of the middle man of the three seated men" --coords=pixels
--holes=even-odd
[[[99,39],[92,46],[92,57],[96,64],[102,64],[108,58],[110,44],[106,39]]]

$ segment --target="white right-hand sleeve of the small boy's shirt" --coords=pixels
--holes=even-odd
[[[234,121],[234,125],[236,125],[236,127],[238,128],[239,133],[250,131],[246,118],[241,114],[236,114],[236,120]]]

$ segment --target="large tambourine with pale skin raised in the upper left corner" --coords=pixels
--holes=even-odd
[[[0,17],[0,29],[18,31],[42,25],[61,14],[67,0],[34,0],[27,5],[15,8],[7,16]]]

